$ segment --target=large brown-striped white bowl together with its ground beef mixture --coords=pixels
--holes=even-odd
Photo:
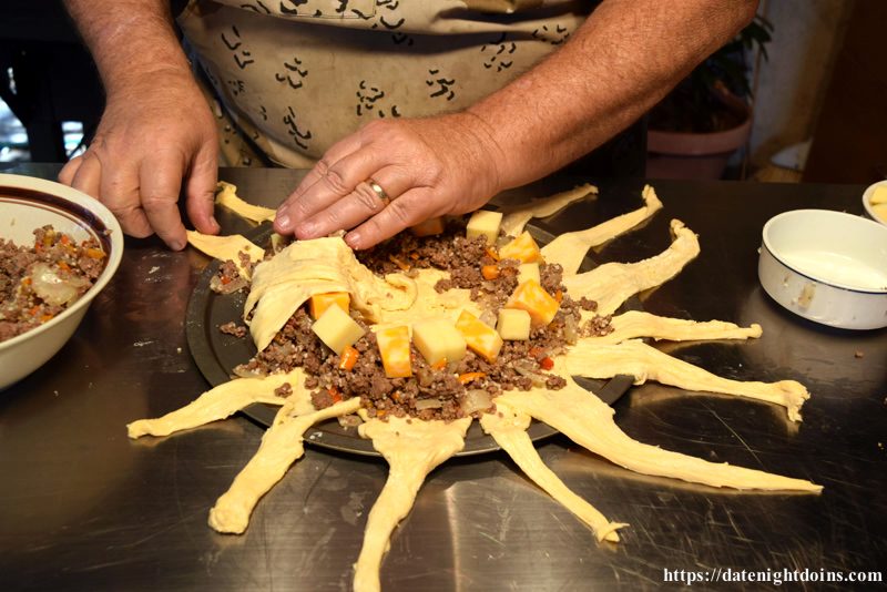
[[[0,389],[62,348],[122,255],[120,225],[96,200],[0,174]]]

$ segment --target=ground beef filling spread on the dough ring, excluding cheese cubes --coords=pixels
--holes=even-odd
[[[520,262],[498,261],[495,253],[487,248],[483,238],[468,239],[463,232],[463,224],[456,224],[439,236],[417,238],[402,233],[370,251],[358,252],[356,256],[379,275],[410,275],[415,269],[431,267],[447,271],[449,278],[438,282],[436,289],[470,289],[475,302],[489,310],[481,319],[493,324],[495,312],[506,304],[518,285]],[[223,266],[217,274],[220,278],[228,278],[225,285],[239,278],[236,266],[228,263],[231,265]],[[495,277],[486,278],[480,271],[482,266],[495,266]],[[370,417],[416,417],[428,420],[452,420],[467,415],[478,417],[481,412],[493,410],[491,402],[478,408],[478,401],[489,402],[504,390],[563,388],[565,380],[549,371],[553,358],[581,337],[605,335],[613,330],[609,316],[593,316],[582,323],[581,313],[594,312],[597,303],[585,297],[578,302],[570,298],[562,285],[563,269],[560,265],[540,263],[539,272],[540,284],[560,300],[560,309],[547,327],[534,329],[529,340],[506,341],[493,364],[469,350],[458,364],[432,368],[414,347],[412,376],[388,378],[375,335],[358,320],[367,333],[354,344],[358,351],[357,361],[350,369],[344,369],[340,357],[312,331],[313,320],[302,307],[265,350],[235,368],[234,374],[251,377],[304,368],[307,374],[304,386],[312,391],[312,402],[317,409],[360,397],[361,406]],[[222,325],[220,329],[235,336],[247,333],[245,327],[235,323]],[[278,391],[279,396],[292,392],[285,389]]]

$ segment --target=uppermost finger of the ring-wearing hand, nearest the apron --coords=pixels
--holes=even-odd
[[[387,164],[386,159],[385,151],[371,146],[346,154],[326,169],[314,185],[300,195],[289,197],[277,208],[275,227],[279,226],[285,233],[292,232],[298,221],[313,216],[351,193],[358,183]]]

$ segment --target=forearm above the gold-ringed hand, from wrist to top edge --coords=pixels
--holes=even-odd
[[[756,4],[604,0],[560,51],[468,110],[498,147],[501,188],[551,173],[630,125]]]

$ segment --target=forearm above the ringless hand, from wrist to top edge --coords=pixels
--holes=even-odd
[[[169,0],[64,0],[109,96],[145,76],[190,75]]]

